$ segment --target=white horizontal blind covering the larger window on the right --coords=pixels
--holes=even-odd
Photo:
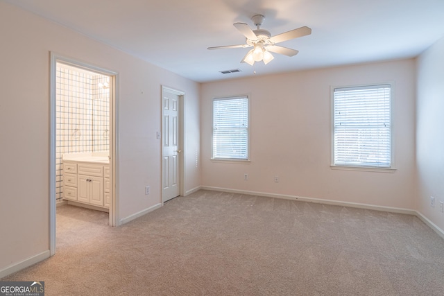
[[[391,167],[391,85],[334,89],[334,165]]]

